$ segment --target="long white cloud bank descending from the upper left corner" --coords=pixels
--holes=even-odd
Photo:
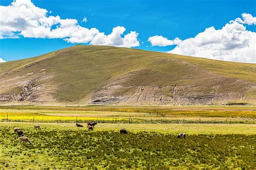
[[[90,43],[122,47],[139,46],[138,33],[124,35],[125,28],[117,26],[105,35],[98,29],[78,25],[76,19],[48,16],[46,9],[30,0],[16,0],[9,6],[0,6],[0,39],[3,38],[62,38],[71,43]],[[86,17],[82,22],[87,22]],[[102,39],[100,39],[102,38]]]

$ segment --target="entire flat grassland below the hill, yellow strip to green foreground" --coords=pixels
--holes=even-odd
[[[0,168],[255,167],[254,105],[12,105],[0,106],[0,118]],[[86,122],[92,121],[98,124],[89,132]],[[15,126],[32,144],[19,143]],[[181,132],[185,140],[176,138]]]

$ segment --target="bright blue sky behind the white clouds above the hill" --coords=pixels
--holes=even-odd
[[[11,3],[12,1],[0,1],[2,6],[8,6]],[[173,40],[174,38],[186,40],[197,36],[198,33],[204,32],[205,29],[211,26],[214,26],[215,30],[220,30],[231,20],[238,17],[242,18],[242,13],[249,13],[253,17],[256,16],[256,1],[32,0],[32,3],[38,8],[48,10],[47,16],[59,16],[61,19],[76,19],[77,25],[87,29],[96,28],[99,32],[104,32],[106,35],[110,34],[114,27],[123,26],[126,29],[124,34],[128,34],[130,31],[138,33],[139,46],[132,48],[160,52],[171,51],[176,45],[152,45],[148,41],[149,37],[158,35],[168,40]],[[82,22],[84,17],[87,19],[86,23]],[[255,24],[245,24],[244,26],[246,31],[256,32]],[[18,32],[15,33],[18,34]],[[254,36],[255,34],[251,36],[251,39]],[[64,38],[24,38],[22,35],[18,35],[18,37],[15,39],[6,37],[0,39],[0,58],[6,61],[24,59],[77,44],[67,42],[63,40]],[[252,42],[248,40],[248,43],[251,44]],[[79,44],[87,45],[90,42]],[[182,45],[180,45],[180,48],[183,48]],[[177,53],[190,55],[190,53],[184,52],[183,49],[177,49],[176,51]],[[191,55],[197,54],[202,55],[204,53],[198,52]],[[205,55],[209,55],[209,57],[205,56],[206,58],[211,58],[210,55],[213,54],[209,52]],[[213,59],[222,58],[216,57]],[[228,59],[227,56],[223,60]],[[239,60],[233,59],[230,61],[243,62],[243,59],[239,58]],[[255,59],[252,55],[250,60],[244,60],[244,62],[254,62],[253,60]]]

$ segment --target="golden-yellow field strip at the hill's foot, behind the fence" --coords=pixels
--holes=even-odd
[[[102,123],[247,123],[254,124],[255,106],[163,107],[0,106],[0,121]]]

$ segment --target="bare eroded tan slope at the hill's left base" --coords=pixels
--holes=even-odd
[[[0,79],[0,103],[53,102],[50,75],[29,73]]]

